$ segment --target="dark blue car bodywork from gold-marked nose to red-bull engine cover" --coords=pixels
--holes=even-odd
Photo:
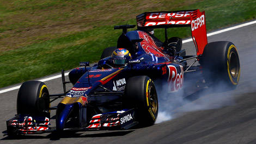
[[[172,55],[165,53],[162,47],[156,47],[154,40],[148,33],[139,30],[127,32],[119,37],[118,45],[119,47],[123,45],[125,48],[125,45],[130,46],[132,44],[129,42],[139,39],[143,41],[136,43],[136,51],[131,52],[132,60],[130,64],[124,67],[104,68],[106,64],[111,62],[110,57],[107,57],[101,59],[98,64],[92,67],[78,67],[69,73],[74,87],[66,93],[62,102],[58,104],[57,129],[63,130],[67,128],[65,125],[72,120],[72,117],[76,117],[79,124],[71,127],[87,126],[90,120],[88,118],[92,117],[92,114],[88,114],[87,109],[92,109],[91,107],[98,108],[95,114],[107,114],[107,112],[121,110],[121,107],[109,108],[106,105],[121,102],[120,95],[115,95],[115,92],[124,92],[125,84],[130,77],[143,75],[149,76],[153,80],[161,79],[164,83],[174,83],[174,91],[178,90],[179,86],[182,86],[182,68],[185,65],[185,62],[180,62],[182,57],[172,57]],[[174,68],[176,72],[175,78],[178,75],[180,77],[176,82],[172,81],[173,72],[170,68]],[[77,77],[79,77],[77,81],[71,79]],[[112,94],[104,95],[104,92]],[[86,101],[80,101],[80,97],[85,98]]]

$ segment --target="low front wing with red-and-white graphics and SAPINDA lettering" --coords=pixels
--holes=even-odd
[[[135,109],[107,112],[92,117],[87,127],[64,130],[129,129],[138,124]],[[16,115],[7,121],[8,135],[47,133],[56,130],[50,127],[50,118],[44,116]]]

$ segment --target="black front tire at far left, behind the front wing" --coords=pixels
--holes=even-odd
[[[50,97],[43,82],[28,81],[21,85],[17,96],[17,114],[50,117]]]

